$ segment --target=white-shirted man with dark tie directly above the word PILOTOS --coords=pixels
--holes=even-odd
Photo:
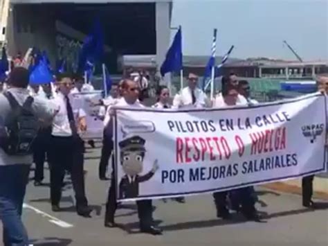
[[[208,98],[206,94],[199,88],[198,76],[194,73],[188,75],[188,87],[183,88],[179,94],[176,94],[173,99],[173,108],[181,107],[208,107]]]

